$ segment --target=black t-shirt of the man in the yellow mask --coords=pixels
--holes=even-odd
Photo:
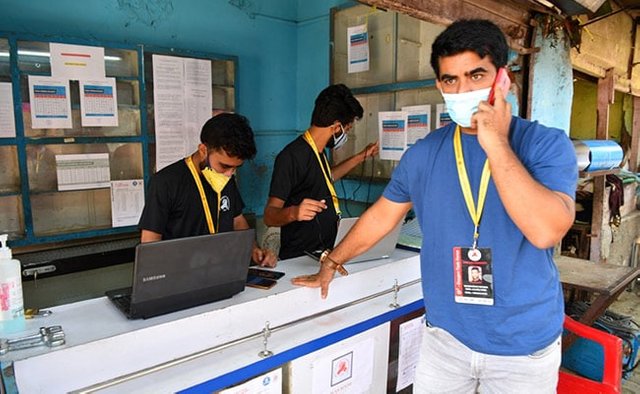
[[[244,208],[235,176],[222,190],[219,219],[218,195],[202,175],[200,180],[216,232],[233,231],[233,219]],[[160,233],[162,239],[209,234],[200,192],[184,159],[163,168],[151,178],[138,227]]]

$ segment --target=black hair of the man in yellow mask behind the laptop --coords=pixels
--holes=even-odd
[[[257,151],[249,120],[239,114],[222,113],[207,120],[200,132],[200,142],[242,160],[253,159]]]

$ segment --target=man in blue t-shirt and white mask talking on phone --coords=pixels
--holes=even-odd
[[[453,122],[407,150],[317,274],[294,279],[326,297],[335,271],[413,208],[427,318],[415,392],[556,389],[564,311],[552,255],[574,219],[576,157],[563,131],[512,116],[506,91],[489,103],[507,54],[485,20],[436,38],[431,65]]]

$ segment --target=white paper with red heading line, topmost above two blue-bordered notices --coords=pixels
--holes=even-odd
[[[103,79],[104,48],[85,45],[49,44],[51,76],[64,79]]]

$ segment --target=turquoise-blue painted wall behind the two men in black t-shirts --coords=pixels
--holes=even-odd
[[[328,32],[322,22],[328,21],[329,7],[314,3],[320,6],[303,30],[321,26]],[[237,56],[237,110],[250,119],[259,144],[258,156],[239,178],[247,211],[262,214],[275,153],[299,129],[297,0],[0,0],[0,10],[0,30],[7,32]],[[310,44],[322,39],[312,37]],[[310,60],[315,57],[315,51],[307,52]],[[306,80],[328,75],[328,53],[323,57],[323,67],[309,70]]]

